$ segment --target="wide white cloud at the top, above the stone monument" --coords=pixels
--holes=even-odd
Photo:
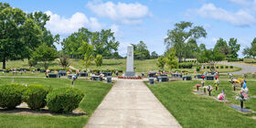
[[[89,9],[97,16],[108,17],[112,21],[123,24],[140,24],[142,19],[150,16],[147,6],[139,3],[125,4],[118,2],[102,3],[101,1],[93,1],[87,4]]]

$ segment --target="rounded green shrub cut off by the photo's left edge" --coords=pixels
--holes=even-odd
[[[26,86],[20,84],[11,83],[0,86],[0,107],[7,110],[15,109],[23,101],[24,91]]]

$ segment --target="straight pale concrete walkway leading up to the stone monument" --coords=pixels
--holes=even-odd
[[[117,80],[86,128],[176,128],[176,119],[143,80]]]

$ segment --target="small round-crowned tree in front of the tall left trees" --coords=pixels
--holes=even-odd
[[[48,64],[50,61],[57,58],[57,50],[55,48],[50,48],[46,45],[41,45],[33,52],[33,58],[37,61],[42,61],[44,68],[48,69]]]

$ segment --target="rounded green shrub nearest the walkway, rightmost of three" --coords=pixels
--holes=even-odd
[[[76,88],[60,88],[47,95],[47,106],[50,112],[67,113],[79,107],[84,93]]]

